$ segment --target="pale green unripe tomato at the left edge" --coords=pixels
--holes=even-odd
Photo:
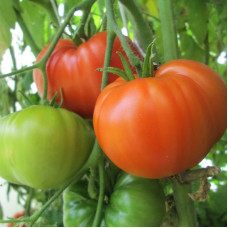
[[[85,163],[93,144],[94,132],[79,115],[31,106],[0,119],[0,176],[59,188]]]

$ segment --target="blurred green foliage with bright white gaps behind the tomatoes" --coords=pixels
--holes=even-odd
[[[119,27],[145,52],[145,46],[155,42],[157,64],[164,62],[159,9],[157,0],[134,0],[147,22],[151,37],[144,40],[137,31],[129,10],[115,1]],[[39,51],[52,39],[67,12],[81,0],[1,0],[0,1],[0,73],[8,73],[33,64]],[[104,0],[93,5],[80,36],[89,39],[106,28]],[[65,29],[64,38],[71,39],[80,23],[83,11],[77,11]],[[217,71],[227,82],[227,1],[173,0],[173,13],[178,35],[179,57],[203,62]],[[39,97],[32,80],[32,71],[0,79],[0,117],[25,108],[24,95],[34,103]],[[201,167],[216,165],[222,172],[210,179],[211,192],[205,203],[196,203],[200,226],[226,226],[227,215],[227,134],[200,163]],[[1,187],[1,186],[0,186]],[[31,191],[22,186],[8,185],[8,191],[18,192],[18,201],[29,207],[31,197],[36,207],[46,202],[52,192]],[[61,200],[45,212],[37,225],[61,226]],[[0,217],[1,217],[0,210]],[[56,219],[58,218],[58,219]],[[60,218],[60,219],[59,219]]]

